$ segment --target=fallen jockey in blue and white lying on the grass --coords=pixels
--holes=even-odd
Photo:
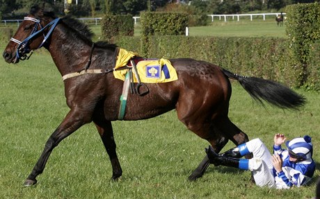
[[[300,187],[309,182],[314,174],[315,163],[312,159],[311,137],[298,137],[286,142],[287,150],[281,148],[285,135],[274,137],[273,155],[260,139],[217,154],[213,148],[206,148],[210,163],[215,166],[232,166],[253,172],[255,183],[259,187],[268,186],[277,189]],[[253,159],[239,159],[253,153]]]

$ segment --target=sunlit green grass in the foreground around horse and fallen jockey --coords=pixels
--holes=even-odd
[[[2,50],[1,50],[2,51]],[[68,111],[63,82],[49,55],[36,52],[17,65],[0,59],[0,198],[312,198],[319,176],[320,94],[307,97],[298,112],[257,105],[233,83],[230,119],[250,138],[271,149],[273,135],[313,137],[317,171],[308,187],[256,187],[250,172],[210,166],[203,178],[187,177],[205,155],[207,141],[177,120],[175,111],[143,121],[115,121],[122,178],[112,182],[111,164],[93,124],[63,140],[35,187],[22,184],[51,132]],[[227,144],[225,149],[233,147]]]

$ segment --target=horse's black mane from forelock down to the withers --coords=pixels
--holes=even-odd
[[[51,19],[56,19],[56,15],[54,14],[54,12],[43,10],[39,6],[33,6],[30,10],[30,14],[38,18],[49,17]],[[90,42],[92,42],[92,37],[93,35],[95,35],[95,33],[93,33],[93,31],[90,30],[87,24],[83,24],[78,19],[74,19],[71,15],[66,15],[61,19],[66,26],[68,26],[74,31],[74,35],[81,37],[83,40],[90,40]],[[102,48],[117,47],[115,44],[109,44],[108,42],[102,42],[102,41],[96,42],[95,44]]]

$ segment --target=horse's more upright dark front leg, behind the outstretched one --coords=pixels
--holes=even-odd
[[[115,152],[115,140],[113,137],[113,130],[111,126],[111,121],[101,121],[102,118],[99,120],[95,120],[95,126],[99,132],[99,135],[102,139],[104,144],[104,148],[106,148],[106,153],[108,153],[111,166],[112,166],[112,178],[113,180],[117,180],[122,175],[122,169],[120,166],[120,162]]]

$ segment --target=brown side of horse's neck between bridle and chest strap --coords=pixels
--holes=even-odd
[[[74,37],[63,28],[65,27],[56,27],[47,47],[61,76],[86,67],[91,51],[90,42]]]

